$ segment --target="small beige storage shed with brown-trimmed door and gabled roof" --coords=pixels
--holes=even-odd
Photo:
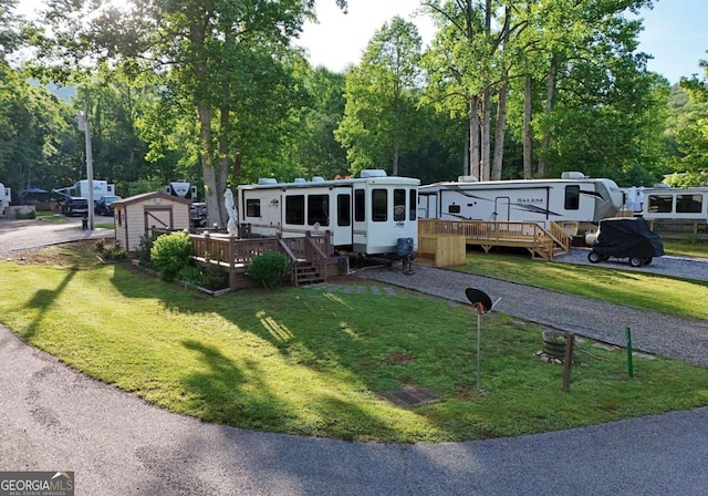
[[[162,192],[131,196],[113,204],[115,241],[124,250],[136,251],[140,237],[154,228],[189,230],[190,200]]]

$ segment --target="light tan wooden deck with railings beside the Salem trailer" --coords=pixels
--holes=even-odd
[[[545,230],[537,223],[419,219],[419,235],[464,236],[467,245],[489,251],[494,246],[525,248],[531,258],[552,260],[568,254],[571,236],[551,221]]]

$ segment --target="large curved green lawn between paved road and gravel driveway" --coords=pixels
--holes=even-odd
[[[0,262],[0,321],[70,366],[209,422],[343,440],[441,442],[708,405],[708,370],[636,358],[629,379],[623,351],[591,341],[581,344],[587,353],[576,355],[564,393],[562,365],[537,355],[541,330],[503,314],[483,317],[486,394],[478,395],[477,318],[468,306],[397,288],[389,294],[356,279],[343,279],[335,290],[210,298],[128,264],[98,265],[71,246],[52,250],[43,265]],[[437,400],[417,407],[387,400],[409,386]]]

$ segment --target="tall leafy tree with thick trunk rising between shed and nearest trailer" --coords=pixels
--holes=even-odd
[[[314,0],[129,0],[124,9],[49,0],[48,6],[51,35],[41,48],[53,56],[129,59],[170,71],[171,90],[197,118],[209,223],[223,224],[221,194],[241,143],[233,108],[252,75],[242,73],[241,62],[251,51],[282,58],[290,38],[313,17]]]

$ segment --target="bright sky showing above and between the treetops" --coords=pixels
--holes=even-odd
[[[20,11],[31,12],[41,0],[20,0]],[[319,23],[308,23],[296,44],[305,48],[312,65],[341,72],[357,64],[374,32],[394,16],[412,21],[427,43],[434,35],[431,22],[415,16],[418,0],[348,0],[344,14],[334,0],[316,0]],[[681,76],[705,72],[699,60],[708,60],[708,1],[654,0],[654,9],[642,13],[645,30],[639,50],[654,56],[650,71],[670,83]]]

